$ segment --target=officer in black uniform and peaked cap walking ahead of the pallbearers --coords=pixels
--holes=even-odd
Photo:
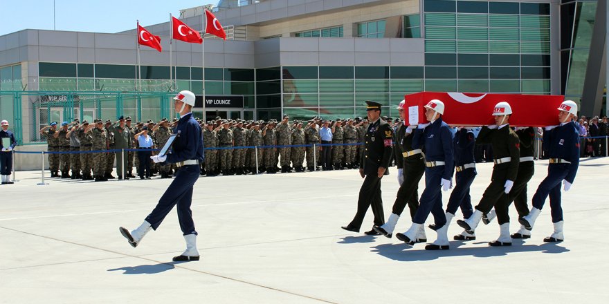
[[[364,182],[359,191],[357,202],[357,213],[349,225],[341,228],[347,231],[359,232],[368,207],[372,206],[374,213],[374,225],[381,226],[385,223],[383,214],[383,200],[381,198],[381,178],[388,175],[388,166],[391,153],[393,151],[391,126],[381,120],[381,104],[378,102],[366,101],[367,116],[370,126],[365,135],[365,153],[362,155],[359,174],[364,178]],[[366,231],[364,234],[376,235],[374,229]]]

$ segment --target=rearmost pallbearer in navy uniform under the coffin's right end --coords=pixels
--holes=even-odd
[[[547,126],[543,133],[543,149],[549,155],[547,177],[539,184],[533,196],[533,208],[529,215],[519,220],[526,229],[533,229],[535,220],[539,216],[549,196],[549,207],[552,213],[554,233],[544,242],[562,242],[563,234],[563,208],[561,207],[561,182],[564,190],[569,191],[575,180],[579,167],[579,132],[572,120],[577,116],[577,104],[566,100],[558,107],[558,126]]]

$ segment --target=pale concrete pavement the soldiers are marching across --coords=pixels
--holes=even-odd
[[[609,303],[608,165],[584,160],[563,193],[565,242],[543,243],[546,205],[530,240],[488,247],[493,222],[442,252],[340,229],[354,215],[354,170],[200,178],[192,211],[201,261],[190,263],[170,262],[185,247],[173,211],[136,249],[118,232],[139,225],[170,180],[38,186],[39,172],[17,172],[19,182],[0,186],[0,303]],[[529,196],[546,167],[537,163]],[[478,170],[475,201],[491,165]],[[385,214],[398,187],[390,171]],[[409,225],[403,218],[397,231]],[[453,223],[449,236],[460,230]]]

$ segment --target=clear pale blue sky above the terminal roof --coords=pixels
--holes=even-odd
[[[55,0],[55,30],[122,32],[169,21],[180,10],[217,0]],[[53,30],[53,0],[0,0],[0,36],[25,29]]]

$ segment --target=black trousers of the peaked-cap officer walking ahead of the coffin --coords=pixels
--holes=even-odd
[[[349,226],[359,229],[370,206],[372,206],[372,214],[374,214],[374,225],[385,224],[383,199],[381,198],[381,178],[373,174],[368,174],[364,178],[362,187],[359,189],[357,213],[355,213],[355,217]]]

